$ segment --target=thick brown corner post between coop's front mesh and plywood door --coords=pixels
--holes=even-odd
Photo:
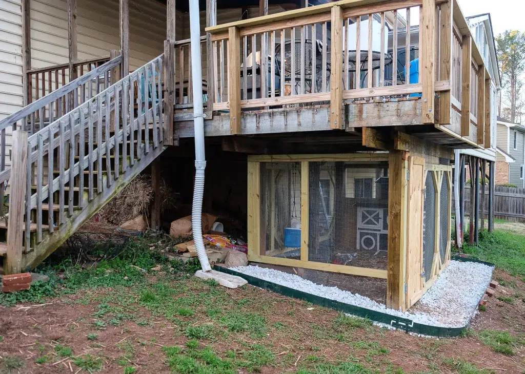
[[[406,245],[406,167],[408,152],[388,155],[388,254],[386,307],[399,309],[404,299],[402,257]]]

